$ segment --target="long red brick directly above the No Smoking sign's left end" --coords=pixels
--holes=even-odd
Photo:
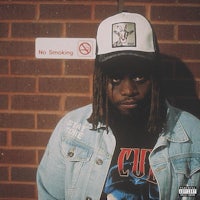
[[[61,37],[62,25],[55,23],[13,23],[12,37]]]

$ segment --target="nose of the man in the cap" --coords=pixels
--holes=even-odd
[[[126,78],[121,83],[122,96],[135,96],[139,93],[137,83],[130,78]]]

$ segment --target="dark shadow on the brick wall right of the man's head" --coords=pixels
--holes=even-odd
[[[162,89],[169,102],[200,118],[200,99],[197,96],[194,76],[180,59],[162,54]]]

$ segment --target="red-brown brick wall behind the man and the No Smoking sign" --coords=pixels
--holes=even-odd
[[[0,1],[0,199],[37,199],[35,173],[68,111],[91,102],[91,60],[43,60],[36,37],[95,37],[117,0]],[[171,101],[200,116],[198,0],[124,0],[154,25]],[[175,98],[172,98],[172,97]]]

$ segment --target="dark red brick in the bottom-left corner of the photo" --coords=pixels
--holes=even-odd
[[[0,184],[0,198],[33,198],[35,186],[28,184]]]

